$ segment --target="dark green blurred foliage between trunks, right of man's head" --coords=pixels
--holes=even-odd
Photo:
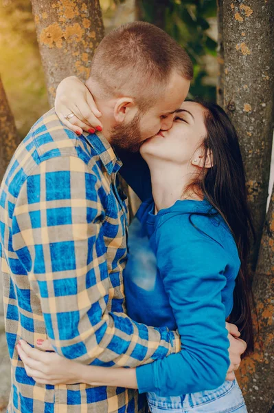
[[[139,0],[139,18],[159,25],[180,43],[194,65],[192,96],[216,100],[216,87],[203,83],[207,76],[204,56],[216,56],[217,43],[208,34],[207,19],[216,17],[216,0]]]

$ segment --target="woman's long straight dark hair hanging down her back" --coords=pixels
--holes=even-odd
[[[237,244],[241,266],[236,278],[229,322],[238,326],[241,338],[247,342],[247,352],[251,352],[254,341],[251,317],[253,297],[248,260],[254,229],[247,201],[246,176],[239,140],[236,129],[219,105],[195,101],[205,109],[207,136],[202,145],[205,155],[212,153],[214,165],[207,173],[202,169],[201,175],[190,183],[188,189],[203,192],[205,198],[222,215]]]

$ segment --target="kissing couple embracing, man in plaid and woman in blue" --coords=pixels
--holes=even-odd
[[[225,112],[185,101],[192,76],[168,34],[124,25],[16,149],[0,189],[9,413],[247,412],[244,167]],[[120,176],[141,199],[131,224]]]

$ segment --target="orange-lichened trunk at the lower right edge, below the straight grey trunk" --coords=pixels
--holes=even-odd
[[[253,293],[259,334],[255,352],[242,361],[238,378],[246,395],[248,411],[268,413],[273,407],[274,371],[274,191],[264,224]]]

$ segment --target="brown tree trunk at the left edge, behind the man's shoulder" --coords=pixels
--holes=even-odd
[[[0,142],[0,182],[5,173],[5,169],[8,167],[8,163],[12,158],[12,155],[19,145],[19,136],[17,135],[16,126],[14,123],[14,117],[8,104],[7,96],[3,88],[3,83],[0,78],[0,130],[1,130],[1,142]]]

